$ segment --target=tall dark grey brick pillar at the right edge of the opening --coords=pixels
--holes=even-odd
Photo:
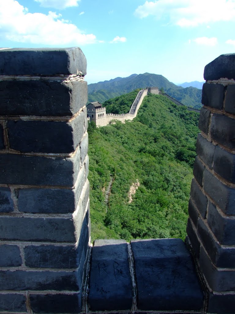
[[[208,290],[209,313],[235,304],[235,54],[205,67],[187,233]]]

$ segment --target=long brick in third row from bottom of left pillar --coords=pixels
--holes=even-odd
[[[75,246],[30,245],[24,248],[25,265],[34,268],[76,268]]]

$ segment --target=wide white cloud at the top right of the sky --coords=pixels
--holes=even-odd
[[[149,15],[169,19],[171,23],[197,26],[203,23],[230,21],[235,18],[235,0],[158,0],[146,1],[134,14],[143,19]]]

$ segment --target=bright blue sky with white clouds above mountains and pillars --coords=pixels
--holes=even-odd
[[[79,46],[88,84],[133,73],[203,81],[235,52],[235,0],[0,0],[1,47]]]

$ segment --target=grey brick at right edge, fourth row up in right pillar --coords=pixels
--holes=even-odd
[[[221,244],[235,245],[235,219],[229,216],[222,216],[217,208],[212,203],[209,203],[207,222]]]

